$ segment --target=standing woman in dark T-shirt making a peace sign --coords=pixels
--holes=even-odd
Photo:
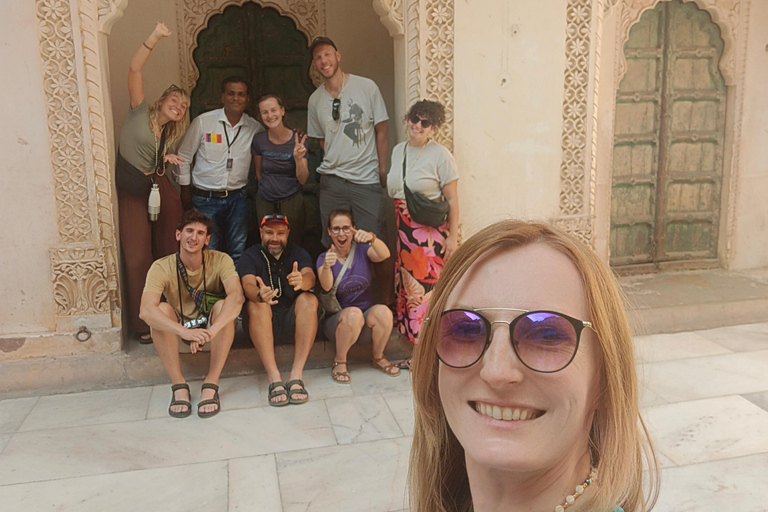
[[[277,94],[267,93],[256,100],[261,124],[267,129],[254,135],[251,153],[259,190],[256,217],[282,213],[291,223],[288,240],[299,246],[304,241],[304,196],[301,186],[309,178],[307,136],[285,126],[285,107]]]

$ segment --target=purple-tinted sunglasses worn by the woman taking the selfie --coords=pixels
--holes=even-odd
[[[519,311],[514,320],[491,322],[480,311]],[[520,362],[535,372],[554,373],[568,366],[579,348],[581,331],[592,328],[556,311],[513,308],[450,309],[440,315],[437,357],[451,368],[469,368],[491,344],[491,326],[509,325],[512,348]]]

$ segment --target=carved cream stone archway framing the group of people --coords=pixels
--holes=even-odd
[[[196,80],[191,49],[208,16],[246,0],[177,0],[179,56],[186,82]],[[324,0],[263,0],[293,18],[308,39],[324,31]],[[44,355],[114,352],[120,349],[121,301],[116,233],[114,134],[105,35],[128,0],[35,0],[49,127],[49,149],[59,228],[50,249],[55,344]],[[375,0],[374,8],[395,39],[400,108],[419,97],[442,101],[453,146],[453,1]],[[183,41],[183,43],[181,42]],[[396,115],[402,114],[397,112]],[[91,333],[86,345],[71,336]]]

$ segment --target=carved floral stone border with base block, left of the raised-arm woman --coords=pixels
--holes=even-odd
[[[79,3],[82,40],[75,37],[78,24],[68,0],[35,3],[60,242],[50,250],[53,299],[56,314],[63,317],[109,313],[119,307],[98,1]],[[81,65],[87,75],[82,96]],[[112,320],[119,325],[116,315]]]

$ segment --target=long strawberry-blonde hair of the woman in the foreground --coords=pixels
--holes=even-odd
[[[610,268],[590,248],[563,231],[541,223],[502,221],[469,238],[448,261],[434,288],[412,362],[415,427],[409,469],[414,512],[472,511],[464,450],[446,422],[437,385],[437,319],[467,270],[494,249],[545,243],[578,269],[601,353],[598,407],[589,435],[596,492],[585,495],[585,510],[647,512],[658,496],[656,455],[640,416],[632,334],[623,297]],[[650,485],[643,493],[643,467]]]

